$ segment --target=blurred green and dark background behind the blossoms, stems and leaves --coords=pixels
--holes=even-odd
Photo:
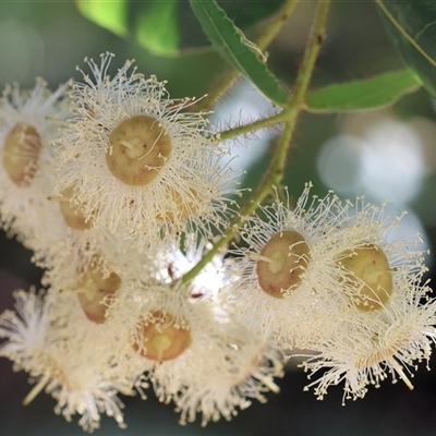
[[[267,0],[265,0],[267,1]],[[250,2],[247,1],[247,8]],[[294,15],[269,47],[268,65],[287,84],[292,84],[302,59],[316,2],[301,1]],[[19,82],[32,88],[35,76],[52,88],[70,77],[80,78],[76,65],[85,57],[98,59],[110,51],[112,66],[134,58],[138,71],[168,81],[171,97],[207,93],[223,72],[225,63],[213,51],[183,58],[150,55],[134,41],[119,38],[88,22],[69,1],[0,2],[0,85]],[[334,1],[327,39],[317,62],[312,87],[371,77],[400,69],[403,63],[379,22],[371,1]],[[399,235],[424,233],[426,246],[436,245],[436,113],[435,101],[425,90],[402,98],[393,108],[353,116],[301,117],[289,155],[286,183],[298,197],[306,181],[314,193],[335,189],[343,198],[365,194],[368,201],[390,199],[392,214],[410,210]],[[232,125],[274,110],[254,87],[240,80],[216,108],[218,126]],[[277,133],[259,133],[257,141],[233,145],[249,169],[245,185],[261,179],[268,149]],[[1,235],[0,308],[13,306],[13,289],[38,286],[41,271],[31,264],[32,254],[15,240]],[[428,266],[434,270],[433,259]],[[434,274],[434,272],[433,272]],[[434,365],[435,366],[435,365]],[[55,401],[41,393],[28,407],[21,405],[29,390],[27,375],[12,373],[0,360],[1,435],[78,435],[76,423],[55,415]],[[149,399],[125,398],[128,429],[104,416],[101,435],[435,435],[436,367],[425,365],[413,379],[415,390],[389,380],[370,389],[365,399],[341,405],[341,387],[330,388],[322,402],[303,392],[305,375],[290,365],[278,380],[282,391],[270,395],[267,404],[253,403],[232,422],[178,425],[171,405],[160,404],[152,391]]]

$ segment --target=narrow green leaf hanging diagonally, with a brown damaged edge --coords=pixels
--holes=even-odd
[[[286,105],[288,93],[268,71],[262,52],[250,43],[215,0],[190,0],[203,31],[222,58],[247,76],[270,100]]]

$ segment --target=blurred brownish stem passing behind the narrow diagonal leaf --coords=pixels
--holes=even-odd
[[[261,50],[265,50],[272,43],[274,38],[291,16],[298,3],[299,0],[286,1],[280,10],[267,21],[265,31],[255,40],[255,44],[261,48]],[[239,74],[239,71],[233,69],[227,71],[209,90],[207,97],[203,98],[195,105],[195,110],[198,112],[209,111],[219,97],[221,97],[225,92],[229,89]]]

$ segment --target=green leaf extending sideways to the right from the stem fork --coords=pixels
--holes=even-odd
[[[409,70],[384,73],[376,77],[326,86],[306,96],[311,112],[349,112],[393,105],[420,84]]]

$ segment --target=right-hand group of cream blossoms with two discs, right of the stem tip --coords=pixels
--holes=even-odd
[[[332,194],[307,207],[308,190],[293,210],[276,201],[259,207],[266,220],[246,219],[229,299],[252,329],[308,350],[311,376],[329,368],[310,385],[319,399],[341,380],[344,398],[361,398],[387,373],[412,387],[403,367],[428,361],[436,339],[424,254],[387,239],[400,217]]]

